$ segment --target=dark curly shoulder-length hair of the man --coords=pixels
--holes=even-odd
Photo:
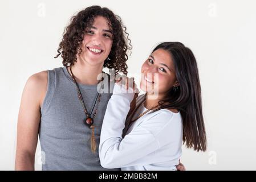
[[[62,56],[64,67],[74,65],[77,53],[81,53],[81,44],[87,28],[94,23],[96,16],[103,16],[108,20],[109,28],[113,34],[113,44],[108,58],[104,61],[103,68],[115,69],[115,74],[123,72],[127,75],[128,60],[127,51],[131,50],[131,40],[123,26],[120,16],[115,15],[106,7],[90,6],[72,16],[71,23],[63,32],[62,42],[59,44],[58,54],[55,58]],[[129,42],[129,43],[128,43]]]

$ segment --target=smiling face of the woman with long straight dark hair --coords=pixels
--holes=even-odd
[[[157,49],[141,67],[140,88],[149,94],[165,96],[173,86],[178,86],[172,56],[164,49]]]

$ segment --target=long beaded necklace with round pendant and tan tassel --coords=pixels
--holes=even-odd
[[[71,72],[71,77],[72,77],[72,80],[74,81],[75,83],[75,86],[76,86],[76,92],[78,93],[78,99],[79,101],[81,102],[82,104],[82,107],[83,107],[83,110],[84,110],[84,114],[86,114],[86,118],[84,119],[84,124],[87,125],[90,129],[92,129],[92,136],[91,136],[91,149],[92,149],[92,152],[95,153],[96,151],[96,143],[95,143],[95,137],[94,137],[94,118],[95,118],[95,115],[97,113],[97,108],[99,106],[99,103],[100,103],[100,97],[101,97],[101,92],[97,92],[97,95],[96,95],[96,98],[95,98],[95,101],[94,101],[94,105],[92,106],[92,110],[91,112],[89,113],[88,110],[86,109],[86,105],[84,104],[84,100],[83,100],[83,96],[81,94],[81,91],[79,89],[79,86],[78,86],[78,82],[76,82],[76,79],[74,77],[74,74],[72,73],[72,69],[71,69],[71,66],[70,66],[70,72]],[[101,85],[100,85],[100,90],[102,88],[102,84],[103,84],[103,78],[101,79]],[[96,107],[95,107],[96,106]],[[95,109],[94,109],[95,108]],[[95,110],[95,111],[94,111]],[[94,111],[94,114],[92,114],[92,112]]]

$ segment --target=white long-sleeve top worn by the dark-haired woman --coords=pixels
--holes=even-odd
[[[125,120],[134,97],[134,93],[124,92],[121,85],[115,84],[105,111],[99,146],[101,166],[121,170],[176,170],[182,154],[180,112],[149,111],[129,126],[123,138]],[[143,97],[139,96],[136,104]],[[145,110],[141,104],[133,118]]]

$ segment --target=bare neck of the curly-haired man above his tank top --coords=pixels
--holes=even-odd
[[[83,85],[96,85],[99,83],[97,76],[102,73],[102,65],[88,65],[79,59],[72,66],[72,73],[76,78],[76,82]],[[70,72],[70,67],[68,69]]]

